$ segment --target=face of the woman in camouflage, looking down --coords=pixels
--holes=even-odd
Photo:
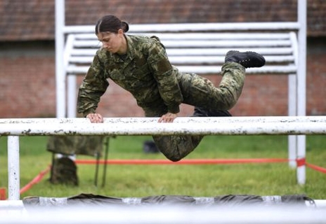
[[[122,48],[122,38],[124,38],[123,32],[118,31],[117,34],[102,32],[96,36],[98,37],[98,41],[102,42],[105,50],[116,53]]]

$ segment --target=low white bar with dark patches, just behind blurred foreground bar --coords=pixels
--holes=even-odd
[[[107,197],[103,195],[80,194],[72,197],[25,197],[25,207],[64,207],[70,205],[121,205],[145,206],[152,204],[185,206],[242,206],[242,205],[314,205],[306,195],[220,195],[215,197],[192,197],[187,195],[155,195],[148,197]]]

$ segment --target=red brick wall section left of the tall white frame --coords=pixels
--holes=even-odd
[[[0,68],[1,118],[56,113],[53,57],[1,58]]]

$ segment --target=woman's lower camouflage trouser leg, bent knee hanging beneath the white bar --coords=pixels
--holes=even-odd
[[[167,113],[167,108],[164,104],[143,108],[143,110],[147,117],[159,117]],[[155,135],[152,138],[159,151],[169,160],[176,162],[191,153],[200,144],[203,136]]]

